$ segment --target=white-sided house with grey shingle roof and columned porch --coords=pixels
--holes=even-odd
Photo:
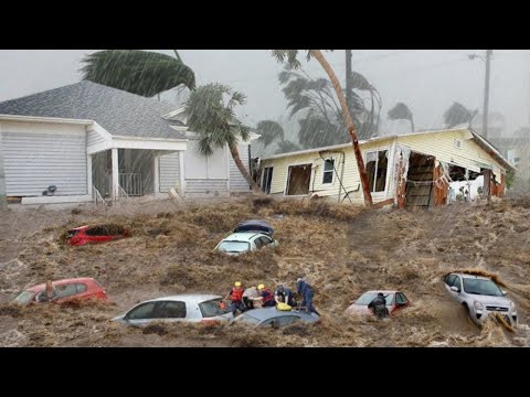
[[[250,192],[229,149],[202,157],[174,114],[171,104],[91,82],[0,103],[6,194],[36,204],[171,187],[187,196]],[[248,164],[250,141],[239,148]]]

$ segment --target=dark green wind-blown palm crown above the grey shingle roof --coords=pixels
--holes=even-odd
[[[83,58],[81,72],[84,81],[149,98],[181,85],[193,89],[195,74],[174,53],[176,57],[140,50],[98,51]]]

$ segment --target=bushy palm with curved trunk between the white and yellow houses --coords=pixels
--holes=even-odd
[[[251,133],[248,127],[237,121],[234,115],[234,107],[244,105],[245,101],[244,94],[234,92],[226,85],[211,83],[200,86],[191,92],[186,103],[187,124],[191,131],[199,135],[198,148],[201,154],[211,155],[215,148],[227,144],[241,174],[253,192],[258,193],[259,187],[245,169],[237,150],[237,141],[248,140]]]

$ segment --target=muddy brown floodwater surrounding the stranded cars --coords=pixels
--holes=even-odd
[[[528,346],[530,198],[433,211],[365,212],[319,201],[232,198],[176,205],[130,204],[98,212],[10,210],[0,214],[2,346]],[[265,218],[280,246],[227,257],[215,244],[240,221]],[[113,223],[131,237],[71,247],[68,228]],[[467,319],[441,278],[453,270],[495,275],[519,312],[510,332]],[[283,330],[241,324],[109,321],[132,304],[181,292],[225,296],[234,281],[295,287],[306,276],[321,321]],[[9,304],[19,290],[47,279],[94,277],[112,303]],[[363,291],[398,289],[412,301],[389,322],[343,314]]]

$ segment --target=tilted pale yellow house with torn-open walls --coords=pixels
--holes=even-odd
[[[373,202],[380,205],[432,207],[449,204],[458,194],[467,201],[469,186],[477,182],[483,185],[479,192],[489,189],[501,197],[507,173],[516,171],[467,127],[378,137],[361,141],[360,148]],[[363,203],[351,143],[261,159],[259,181],[272,195]]]

